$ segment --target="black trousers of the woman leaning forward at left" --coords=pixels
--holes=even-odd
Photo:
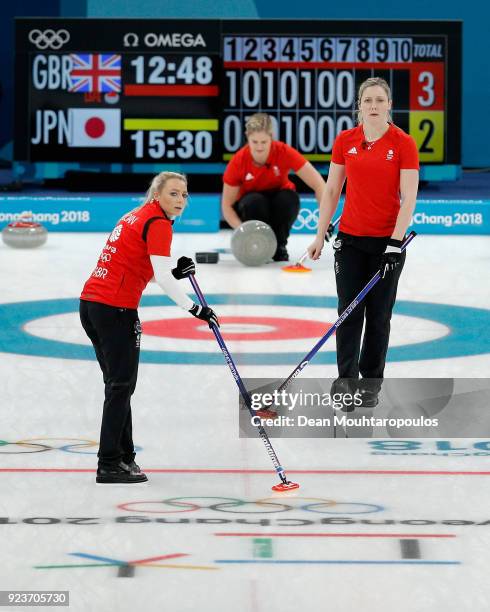
[[[105,384],[99,467],[135,457],[131,396],[136,387],[141,341],[138,311],[80,300],[80,320],[93,344]]]

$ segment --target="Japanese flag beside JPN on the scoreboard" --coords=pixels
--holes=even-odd
[[[70,147],[120,147],[121,109],[70,108]]]

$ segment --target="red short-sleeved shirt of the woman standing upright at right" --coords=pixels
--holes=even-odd
[[[390,124],[368,147],[362,125],[335,139],[332,161],[345,166],[347,177],[339,230],[353,236],[391,236],[400,211],[400,170],[419,169],[417,145]]]

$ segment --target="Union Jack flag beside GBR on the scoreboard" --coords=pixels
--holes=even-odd
[[[121,56],[103,54],[70,54],[73,62],[68,91],[110,92],[121,91]]]

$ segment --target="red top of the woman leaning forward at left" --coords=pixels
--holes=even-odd
[[[156,200],[127,213],[112,230],[80,298],[119,308],[138,307],[153,278],[150,255],[170,256],[172,221]]]

